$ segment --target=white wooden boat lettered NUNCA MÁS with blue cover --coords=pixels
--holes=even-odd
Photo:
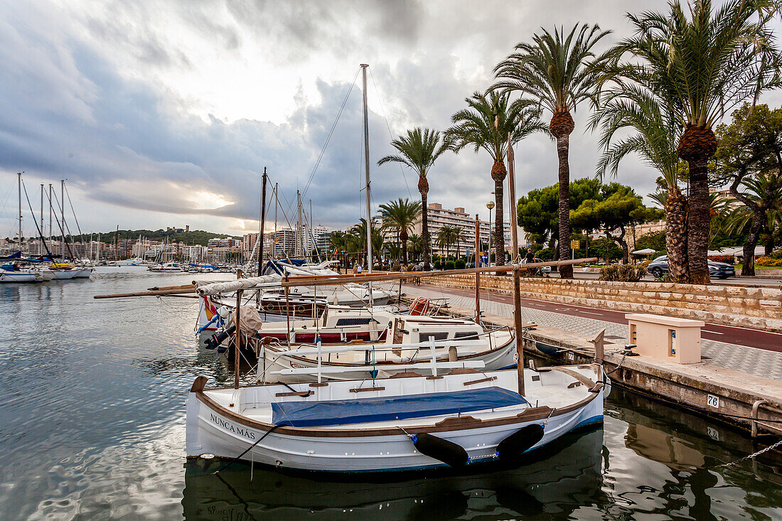
[[[441,368],[461,364],[446,362]],[[600,365],[315,384],[188,395],[186,452],[289,469],[387,472],[523,458],[603,419]]]

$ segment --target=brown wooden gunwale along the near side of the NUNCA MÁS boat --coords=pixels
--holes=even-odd
[[[553,369],[554,371],[560,371],[562,368],[554,367],[551,369]],[[585,383],[590,384],[590,387],[595,385],[595,383],[592,382],[590,379],[588,379],[586,376],[583,375],[580,376],[584,380],[586,380]],[[217,411],[224,417],[231,419],[231,421],[241,423],[243,426],[248,426],[248,427],[252,427],[253,429],[259,429],[259,430],[268,430],[274,426],[271,423],[259,422],[258,420],[249,419],[246,416],[239,415],[228,408],[224,408],[221,404],[218,404],[217,401],[214,401],[210,397],[206,396],[203,390],[196,390],[191,392],[195,392],[195,397],[201,403],[206,405],[206,407],[212,409],[213,411]],[[581,400],[576,401],[572,404],[566,405],[565,407],[555,408],[553,412],[551,408],[548,407],[547,405],[541,405],[539,407],[530,407],[525,411],[522,411],[522,413],[519,413],[518,415],[507,416],[505,418],[488,419],[488,420],[475,419],[474,422],[469,422],[469,423],[460,422],[458,426],[442,425],[443,421],[447,420],[447,419],[443,419],[434,425],[414,426],[405,430],[407,431],[407,433],[411,433],[411,434],[447,433],[454,430],[464,430],[468,428],[509,425],[511,423],[518,423],[520,421],[525,421],[525,422],[537,421],[537,420],[547,419],[554,416],[565,415],[572,411],[577,411],[578,409],[583,408],[584,406],[589,404],[590,401],[593,401],[599,395],[600,395],[599,393],[589,393],[587,397],[584,397]],[[343,437],[392,436],[394,434],[400,434],[402,433],[402,431],[398,427],[383,427],[383,428],[375,428],[375,429],[311,429],[308,427],[284,426],[284,427],[278,427],[277,429],[274,429],[274,433],[285,434],[288,436],[295,436],[295,437],[343,438]]]

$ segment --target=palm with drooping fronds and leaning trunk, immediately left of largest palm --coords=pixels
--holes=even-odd
[[[655,199],[665,209],[669,278],[673,282],[687,282],[687,198],[678,182],[681,167],[676,153],[681,135],[678,113],[668,100],[640,84],[619,81],[605,95],[606,99],[590,120],[591,128],[601,129],[604,147],[597,174],[603,177],[608,171],[616,176],[619,162],[631,153],[662,174],[665,190],[658,192],[659,199]],[[633,133],[614,141],[616,132],[626,129],[632,129]]]

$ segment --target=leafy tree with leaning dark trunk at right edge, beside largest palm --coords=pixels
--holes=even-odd
[[[769,225],[782,196],[782,109],[744,103],[716,136],[714,178],[743,205],[729,218],[731,231],[747,233],[741,275],[755,275],[755,246],[762,234],[772,235]]]

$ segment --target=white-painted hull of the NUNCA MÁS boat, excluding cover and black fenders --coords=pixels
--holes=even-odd
[[[533,375],[530,375],[529,371],[526,373],[526,385],[529,383],[531,387],[545,387],[540,381],[536,386],[535,381],[531,379]],[[536,375],[544,374],[547,373],[537,373]],[[503,386],[507,388],[505,384],[515,379],[516,372],[486,372],[480,373],[480,375],[485,375],[487,378],[496,376],[497,379],[504,382]],[[593,378],[595,376],[592,375]],[[421,377],[421,379],[423,378]],[[450,380],[448,383],[443,383],[443,380],[429,380],[429,382],[435,387],[450,385],[454,389],[463,389],[464,382],[462,380],[475,380],[475,374],[450,375],[447,378]],[[552,378],[561,379],[561,375],[554,375]],[[412,381],[418,379],[396,380]],[[376,380],[375,384],[378,385],[378,383],[382,383],[383,386],[404,388],[402,384],[397,385],[394,379]],[[416,384],[415,382],[410,383]],[[329,385],[342,384],[348,383]],[[485,386],[491,385],[492,383],[485,384]],[[564,385],[557,385],[556,388],[564,390],[566,385],[565,382]],[[248,421],[249,416],[232,412],[228,408],[218,405],[221,398],[224,398],[232,401],[232,405],[238,404],[239,406],[235,409],[246,411],[246,408],[242,408],[242,395],[246,390],[253,389],[254,392],[260,392],[259,390],[263,390],[264,386],[245,387],[239,390],[200,392],[196,390],[189,394],[186,429],[188,456],[208,453],[224,458],[236,458],[246,451],[242,455],[242,459],[246,461],[260,462],[275,467],[325,472],[388,472],[429,469],[446,465],[418,452],[411,439],[400,427],[408,432],[413,431],[413,433],[432,433],[443,440],[458,444],[468,454],[468,465],[472,465],[497,460],[497,445],[500,441],[523,427],[540,425],[541,422],[544,424],[542,439],[529,448],[529,450],[533,450],[556,440],[579,426],[602,422],[603,419],[603,393],[602,389],[597,389],[594,392],[587,391],[586,397],[580,401],[576,400],[576,403],[569,407],[554,408],[554,410],[547,407],[527,407],[520,411],[513,410],[511,412],[492,410],[484,413],[482,411],[479,415],[471,413],[471,415],[464,417],[450,416],[446,419],[423,418],[415,419],[414,422],[399,420],[396,422],[398,424],[396,427],[390,423],[386,426],[378,426],[377,429],[283,427],[275,428],[269,432],[270,424],[260,425],[258,422]],[[280,389],[284,389],[284,387],[267,386],[266,392]],[[319,393],[330,393],[328,387],[315,387],[314,389],[316,396]],[[567,392],[570,391],[571,388],[568,388]],[[581,394],[583,391],[582,387]],[[213,393],[212,397],[216,400],[212,400],[210,393]],[[536,403],[534,393],[528,394],[527,400],[530,403]],[[573,394],[575,395],[575,393]],[[517,415],[517,413],[520,414]],[[525,417],[529,419],[525,419]],[[460,422],[466,422],[465,425],[468,424],[468,427],[460,428]],[[261,439],[262,437],[264,438]]]

